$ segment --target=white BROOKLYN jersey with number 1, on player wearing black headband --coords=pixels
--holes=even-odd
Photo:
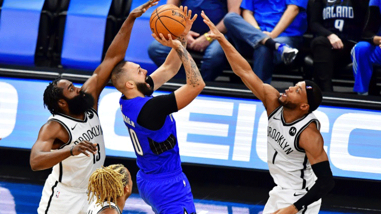
[[[305,189],[311,187],[316,180],[306,152],[299,147],[300,133],[311,122],[316,122],[318,130],[320,129],[320,123],[314,113],[286,123],[282,106],[268,117],[268,168],[274,182],[284,189]]]

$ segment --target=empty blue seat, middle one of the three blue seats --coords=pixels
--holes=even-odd
[[[64,68],[94,70],[101,63],[111,2],[70,0],[61,54]]]

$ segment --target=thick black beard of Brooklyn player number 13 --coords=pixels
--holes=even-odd
[[[94,106],[94,98],[89,93],[79,91],[79,95],[65,99],[71,114],[80,115]]]

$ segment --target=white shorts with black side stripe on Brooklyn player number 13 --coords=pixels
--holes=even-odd
[[[52,174],[45,181],[38,214],[86,214],[87,189],[73,188],[58,182]]]

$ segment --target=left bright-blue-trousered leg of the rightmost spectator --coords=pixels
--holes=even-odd
[[[353,91],[363,94],[368,92],[369,82],[373,73],[371,53],[376,47],[367,42],[359,42],[351,51],[353,60],[353,76],[355,84]]]

